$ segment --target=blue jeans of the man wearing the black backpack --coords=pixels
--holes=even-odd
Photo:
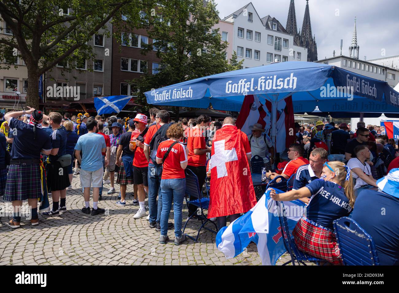
[[[161,165],[148,164],[148,212],[150,214],[150,223],[160,223],[162,211],[162,194],[161,194]],[[156,196],[158,195],[158,205]]]

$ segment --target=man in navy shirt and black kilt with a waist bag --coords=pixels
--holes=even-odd
[[[47,189],[51,191],[51,197],[53,198],[53,207],[41,215],[51,217],[59,215],[59,211],[67,211],[66,188],[71,182],[69,182],[67,165],[62,166],[59,161],[59,158],[66,154],[67,131],[61,125],[62,115],[58,112],[50,112],[48,116],[43,115],[43,120],[49,121],[52,129],[50,138],[53,149],[47,157],[46,179]]]

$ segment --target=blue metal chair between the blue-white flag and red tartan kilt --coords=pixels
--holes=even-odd
[[[281,207],[284,208],[284,204],[282,201],[276,201],[277,206],[279,207],[279,211],[283,211]],[[293,266],[295,266],[295,262],[299,264],[303,264],[306,266],[305,262],[315,262],[316,264],[320,264],[320,262],[326,262],[325,260],[322,260],[320,258],[315,258],[314,256],[311,256],[310,254],[307,254],[301,250],[298,249],[298,247],[295,244],[294,237],[291,235],[290,229],[288,228],[288,222],[287,222],[287,217],[284,216],[284,213],[279,213],[279,221],[280,221],[280,227],[281,227],[281,235],[282,239],[284,242],[285,249],[287,252],[290,254],[291,260],[288,262],[282,264],[283,266],[292,263]]]

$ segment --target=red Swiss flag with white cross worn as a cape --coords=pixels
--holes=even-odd
[[[208,218],[246,213],[256,204],[244,139],[246,135],[233,125],[213,137]]]

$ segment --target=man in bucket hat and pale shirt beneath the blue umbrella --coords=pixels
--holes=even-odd
[[[263,158],[266,171],[271,170],[271,164],[274,164],[274,147],[271,138],[265,132],[262,125],[255,123],[249,127],[252,133],[247,135],[249,145],[251,146],[252,156],[258,155]]]

